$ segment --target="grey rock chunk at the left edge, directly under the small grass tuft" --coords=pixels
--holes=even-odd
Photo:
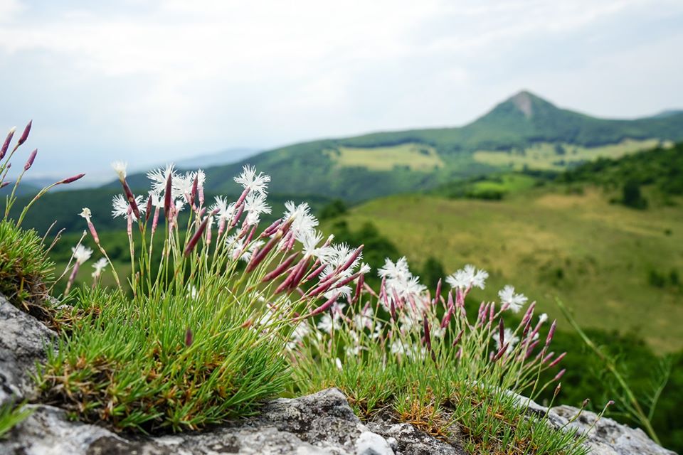
[[[0,295],[0,405],[33,395],[31,373],[54,335]]]

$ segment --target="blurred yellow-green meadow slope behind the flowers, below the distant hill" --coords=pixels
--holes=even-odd
[[[484,267],[489,299],[511,283],[551,315],[557,295],[583,326],[633,331],[660,351],[683,348],[682,294],[647,280],[651,269],[683,269],[680,207],[640,212],[610,205],[596,189],[538,189],[498,202],[395,196],[347,219],[351,228],[371,221],[418,264],[431,255],[448,272]]]

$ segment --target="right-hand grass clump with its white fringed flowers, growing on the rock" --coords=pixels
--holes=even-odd
[[[524,296],[502,291],[501,306],[482,303],[471,319],[465,313],[465,296],[473,285],[483,287],[485,272],[466,267],[449,277],[448,299],[431,299],[404,259],[387,261],[381,274],[376,298],[356,294],[358,305],[333,307],[300,340],[303,355],[293,371],[302,392],[339,387],[365,419],[388,413],[460,441],[472,454],[587,453],[582,435],[554,429],[512,393],[531,390],[536,397],[564,373],[564,355],[549,349],[555,323],[539,340],[546,316],[532,321],[535,304],[521,323],[505,328]],[[541,373],[551,370],[554,378],[541,383]]]

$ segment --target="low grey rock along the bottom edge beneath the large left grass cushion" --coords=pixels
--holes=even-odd
[[[0,442],[0,454],[358,454],[393,455],[386,439],[354,415],[346,397],[327,389],[296,399],[274,400],[263,412],[201,433],[126,437],[102,427],[70,422],[55,407],[31,405],[31,417]]]

